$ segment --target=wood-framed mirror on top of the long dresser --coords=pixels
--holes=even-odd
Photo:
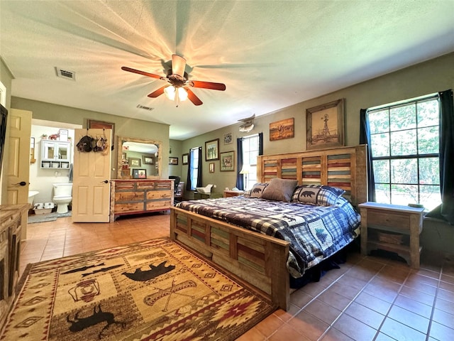
[[[151,139],[118,136],[117,178],[132,179],[139,168],[145,169],[147,179],[158,179],[161,174],[162,142]],[[131,162],[135,161],[135,162]],[[147,161],[147,162],[145,162]]]

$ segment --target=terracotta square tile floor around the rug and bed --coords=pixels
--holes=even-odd
[[[145,239],[168,237],[170,215],[72,224],[71,217],[28,225],[21,266]],[[454,261],[423,259],[419,271],[389,259],[351,253],[341,269],[292,293],[238,341],[454,340]]]

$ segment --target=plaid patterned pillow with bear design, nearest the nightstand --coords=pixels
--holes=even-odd
[[[293,195],[292,202],[301,204],[333,206],[338,202],[338,197],[343,195],[342,188],[326,185],[301,185],[298,186]]]

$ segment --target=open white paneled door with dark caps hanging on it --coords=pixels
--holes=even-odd
[[[111,129],[75,129],[72,180],[72,221],[109,222],[111,179]],[[105,153],[77,150],[83,136],[106,136]]]

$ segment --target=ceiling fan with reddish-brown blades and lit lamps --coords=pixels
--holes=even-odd
[[[186,60],[179,55],[172,55],[172,67],[167,70],[167,76],[162,77],[155,75],[150,72],[140,71],[132,69],[131,67],[122,66],[121,70],[137,73],[139,75],[157,78],[159,80],[165,80],[169,84],[160,87],[159,89],[148,94],[148,97],[158,97],[161,94],[165,94],[167,98],[175,100],[177,107],[180,101],[189,100],[195,105],[203,104],[199,97],[192,92],[191,87],[200,87],[203,89],[210,90],[226,90],[226,85],[223,83],[214,82],[203,82],[201,80],[188,80],[187,72],[184,72],[186,68]]]

